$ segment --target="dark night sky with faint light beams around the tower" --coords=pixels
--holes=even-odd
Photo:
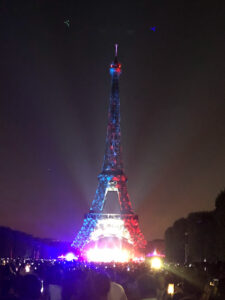
[[[103,161],[115,42],[143,233],[161,238],[212,210],[225,187],[224,16],[224,1],[2,0],[0,225],[69,241],[81,227]]]

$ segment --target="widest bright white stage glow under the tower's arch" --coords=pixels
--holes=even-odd
[[[87,260],[93,262],[128,262],[129,252],[121,248],[90,248],[87,251]]]

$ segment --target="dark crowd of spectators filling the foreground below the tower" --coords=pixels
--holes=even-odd
[[[0,300],[225,300],[225,264],[2,259]]]

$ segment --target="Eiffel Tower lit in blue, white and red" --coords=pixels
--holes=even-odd
[[[118,62],[117,47],[116,44],[115,58],[110,65],[112,81],[102,172],[98,176],[99,183],[90,211],[85,215],[83,225],[72,243],[72,246],[81,252],[90,242],[112,237],[127,240],[133,252],[140,252],[146,246],[145,238],[139,228],[138,216],[132,210],[127,191],[127,177],[123,170],[119,98],[119,77],[122,68]],[[103,213],[106,195],[109,191],[117,192],[119,214]],[[104,221],[107,224],[107,231],[103,230]]]

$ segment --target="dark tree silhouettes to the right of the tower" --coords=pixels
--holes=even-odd
[[[194,212],[177,220],[165,232],[166,257],[170,261],[225,261],[225,190],[211,212]]]

